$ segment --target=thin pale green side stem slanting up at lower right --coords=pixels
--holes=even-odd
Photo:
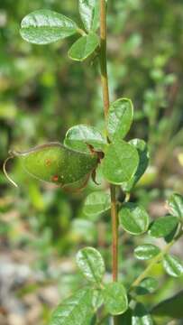
[[[164,247],[160,254],[152,258],[150,265],[148,265],[147,268],[142,272],[142,274],[140,274],[138,278],[132,283],[130,291],[133,290],[133,287],[138,286],[142,282],[142,280],[151,272],[152,267],[162,260],[163,256],[169,252],[170,247],[173,246],[182,235],[183,230],[181,229],[178,235],[167,246]]]

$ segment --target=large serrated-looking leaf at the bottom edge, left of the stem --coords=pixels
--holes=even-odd
[[[91,288],[82,289],[53,312],[50,325],[91,325],[94,315]]]

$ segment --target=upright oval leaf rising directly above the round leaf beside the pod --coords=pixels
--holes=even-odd
[[[133,103],[128,98],[120,98],[109,107],[107,129],[111,140],[123,139],[133,123]]]

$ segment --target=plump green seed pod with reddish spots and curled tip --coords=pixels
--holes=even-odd
[[[80,153],[59,143],[42,144],[24,153],[12,151],[13,157],[32,177],[65,188],[83,187],[98,161],[96,153]]]

